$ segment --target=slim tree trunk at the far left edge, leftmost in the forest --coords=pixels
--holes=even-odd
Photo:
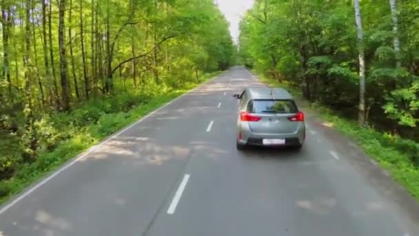
[[[10,10],[2,3],[1,16],[3,26],[3,79],[6,79],[8,84],[8,92],[12,95],[12,81],[10,81],[10,62],[9,62],[9,35],[12,21],[10,17]]]

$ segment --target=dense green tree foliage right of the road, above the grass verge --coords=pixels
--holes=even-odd
[[[418,2],[397,1],[397,35],[389,3],[360,3],[368,118],[385,130],[419,138],[405,132],[416,127],[418,119],[419,15],[414,10]],[[400,52],[394,48],[395,37]],[[350,1],[256,0],[241,21],[239,40],[239,57],[245,66],[288,81],[312,102],[357,117],[358,46]]]

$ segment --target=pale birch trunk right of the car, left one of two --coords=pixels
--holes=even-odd
[[[359,113],[358,123],[365,124],[365,56],[364,56],[364,32],[362,30],[362,19],[359,0],[354,1],[356,32],[358,35],[358,57],[359,57]]]

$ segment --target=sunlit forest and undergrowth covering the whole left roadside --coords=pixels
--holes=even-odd
[[[212,0],[0,8],[0,202],[236,56]]]

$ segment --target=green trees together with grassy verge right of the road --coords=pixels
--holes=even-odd
[[[241,63],[311,102],[419,198],[417,1],[256,0]]]

